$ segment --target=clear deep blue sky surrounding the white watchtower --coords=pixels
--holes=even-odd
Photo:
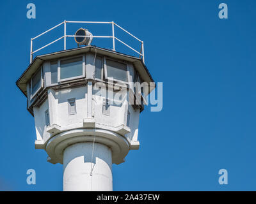
[[[36,19],[26,17],[28,3],[35,3]],[[218,17],[220,3],[228,5],[228,19]],[[30,38],[63,20],[114,20],[145,42],[146,65],[163,82],[163,110],[141,113],[141,148],[113,164],[113,190],[255,191],[255,10],[253,0],[2,1],[0,190],[62,190],[62,165],[35,150],[34,120],[15,85],[29,64]],[[81,27],[72,26],[70,34]],[[67,46],[76,47],[72,39]],[[62,48],[61,41],[38,54]],[[36,185],[26,183],[29,168],[36,170]],[[228,185],[218,184],[221,168]]]

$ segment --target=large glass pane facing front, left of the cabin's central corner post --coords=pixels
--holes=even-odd
[[[83,75],[83,57],[60,62],[60,79]]]

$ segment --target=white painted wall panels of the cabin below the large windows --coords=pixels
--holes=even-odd
[[[54,91],[49,89],[48,99],[38,108],[34,108],[35,114],[35,126],[36,126],[36,138],[37,140],[43,140],[44,142],[51,136],[45,129],[45,111],[49,109],[50,124],[57,124],[62,129],[68,129],[72,125],[83,126],[83,119],[88,116],[87,100],[88,92],[87,87],[77,87],[72,89],[65,89],[62,91]],[[113,100],[115,92],[109,94],[109,100]],[[68,99],[76,98],[76,114],[68,115]],[[109,115],[102,113],[102,103],[104,96],[99,96],[99,92],[93,92],[92,96],[92,115],[97,124],[106,126],[106,129],[116,128],[127,124],[127,108],[128,100],[124,98],[120,105],[110,105]],[[49,104],[49,105],[48,105]],[[129,128],[131,133],[127,133],[125,136],[129,137],[129,141],[138,140],[138,126],[140,119],[140,110],[134,110],[129,105],[129,112],[131,113]]]

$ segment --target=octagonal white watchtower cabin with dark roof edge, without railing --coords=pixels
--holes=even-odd
[[[35,57],[17,86],[35,117],[36,149],[47,150],[54,135],[79,128],[113,131],[127,140],[129,149],[138,149],[140,112],[155,88],[150,82],[140,58],[88,46]],[[49,161],[62,163],[53,154]],[[113,156],[113,163],[122,161]]]

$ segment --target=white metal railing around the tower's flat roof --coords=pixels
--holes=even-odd
[[[68,37],[74,38],[74,37],[90,37],[90,36],[76,36],[76,35],[68,35],[67,34],[67,23],[73,23],[73,24],[111,24],[112,25],[112,36],[93,36],[93,38],[112,38],[113,39],[113,50],[115,51],[115,40],[119,41],[120,43],[124,44],[126,47],[130,48],[131,50],[133,50],[134,52],[136,52],[137,54],[140,55],[140,57],[142,57],[143,62],[145,62],[145,56],[144,56],[144,43],[143,41],[141,41],[139,38],[136,38],[133,34],[129,33],[128,31],[126,31],[124,28],[120,27],[119,25],[117,25],[115,22],[111,21],[111,22],[94,22],[94,21],[68,21],[68,20],[64,20],[63,22],[61,22],[58,25],[55,25],[54,27],[52,27],[51,29],[48,29],[47,31],[45,31],[44,33],[38,34],[38,36],[35,36],[35,38],[31,38],[31,45],[30,45],[30,63],[33,61],[33,54],[35,54],[35,52],[38,52],[39,50],[42,50],[43,48],[51,45],[52,43],[55,43],[56,41],[61,40],[62,38],[64,38],[64,50],[66,50],[66,40]],[[44,45],[43,47],[38,48],[37,50],[33,51],[33,40],[35,40],[36,38],[39,38],[40,36],[42,36],[45,33],[48,33],[49,31],[55,29],[56,27],[59,27],[60,25],[64,24],[64,35],[61,36],[60,38],[52,41],[51,43],[48,43],[47,45]],[[141,43],[141,50],[140,52],[138,52],[137,50],[135,50],[134,48],[132,48],[131,46],[127,45],[126,43],[124,43],[124,41],[116,38],[115,36],[115,25],[116,27],[119,27],[120,29],[122,29],[125,33],[129,34],[130,36],[132,36],[133,38],[135,38],[136,40],[140,41]]]

